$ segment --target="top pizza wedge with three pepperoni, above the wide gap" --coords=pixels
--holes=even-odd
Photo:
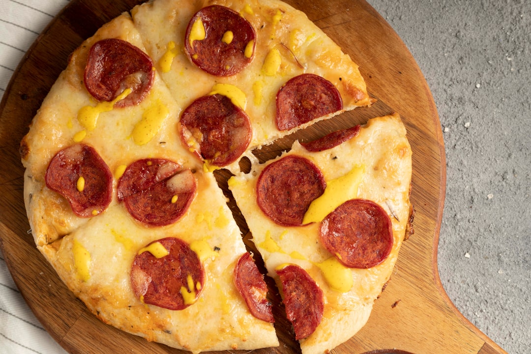
[[[208,168],[238,171],[251,150],[373,102],[352,59],[284,2],[157,0],[132,16],[173,97],[189,107],[179,134]]]

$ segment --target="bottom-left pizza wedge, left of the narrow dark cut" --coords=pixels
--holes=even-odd
[[[153,175],[166,169],[160,159],[139,163],[149,161],[160,166]],[[278,346],[263,275],[215,178],[190,170],[169,175],[134,193],[152,198],[114,204],[40,251],[93,314],[125,332],[195,353]],[[170,205],[155,195],[168,185],[175,186],[169,199],[186,191],[191,202],[176,222],[155,226],[160,215],[144,216]]]

